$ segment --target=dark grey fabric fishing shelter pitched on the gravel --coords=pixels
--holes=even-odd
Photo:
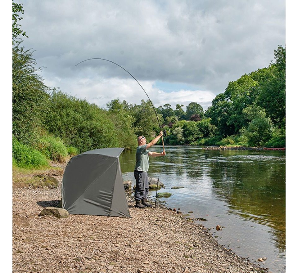
[[[62,180],[62,208],[70,214],[130,217],[119,156],[105,148],[72,157]]]

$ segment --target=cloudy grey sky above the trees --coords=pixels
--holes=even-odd
[[[284,0],[15,0],[45,84],[105,107],[115,98],[206,110],[286,43]]]

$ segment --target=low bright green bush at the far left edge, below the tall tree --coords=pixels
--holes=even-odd
[[[40,151],[12,138],[12,162],[21,168],[40,168],[48,165],[47,158]]]

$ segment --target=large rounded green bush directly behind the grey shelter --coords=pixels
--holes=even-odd
[[[52,93],[46,124],[48,131],[61,137],[66,146],[74,146],[80,152],[119,147],[115,125],[107,111],[61,91]]]

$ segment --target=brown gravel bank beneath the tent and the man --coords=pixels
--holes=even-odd
[[[56,189],[13,189],[13,272],[267,272],[217,244],[203,226],[165,208],[134,208],[131,218],[40,217]]]

